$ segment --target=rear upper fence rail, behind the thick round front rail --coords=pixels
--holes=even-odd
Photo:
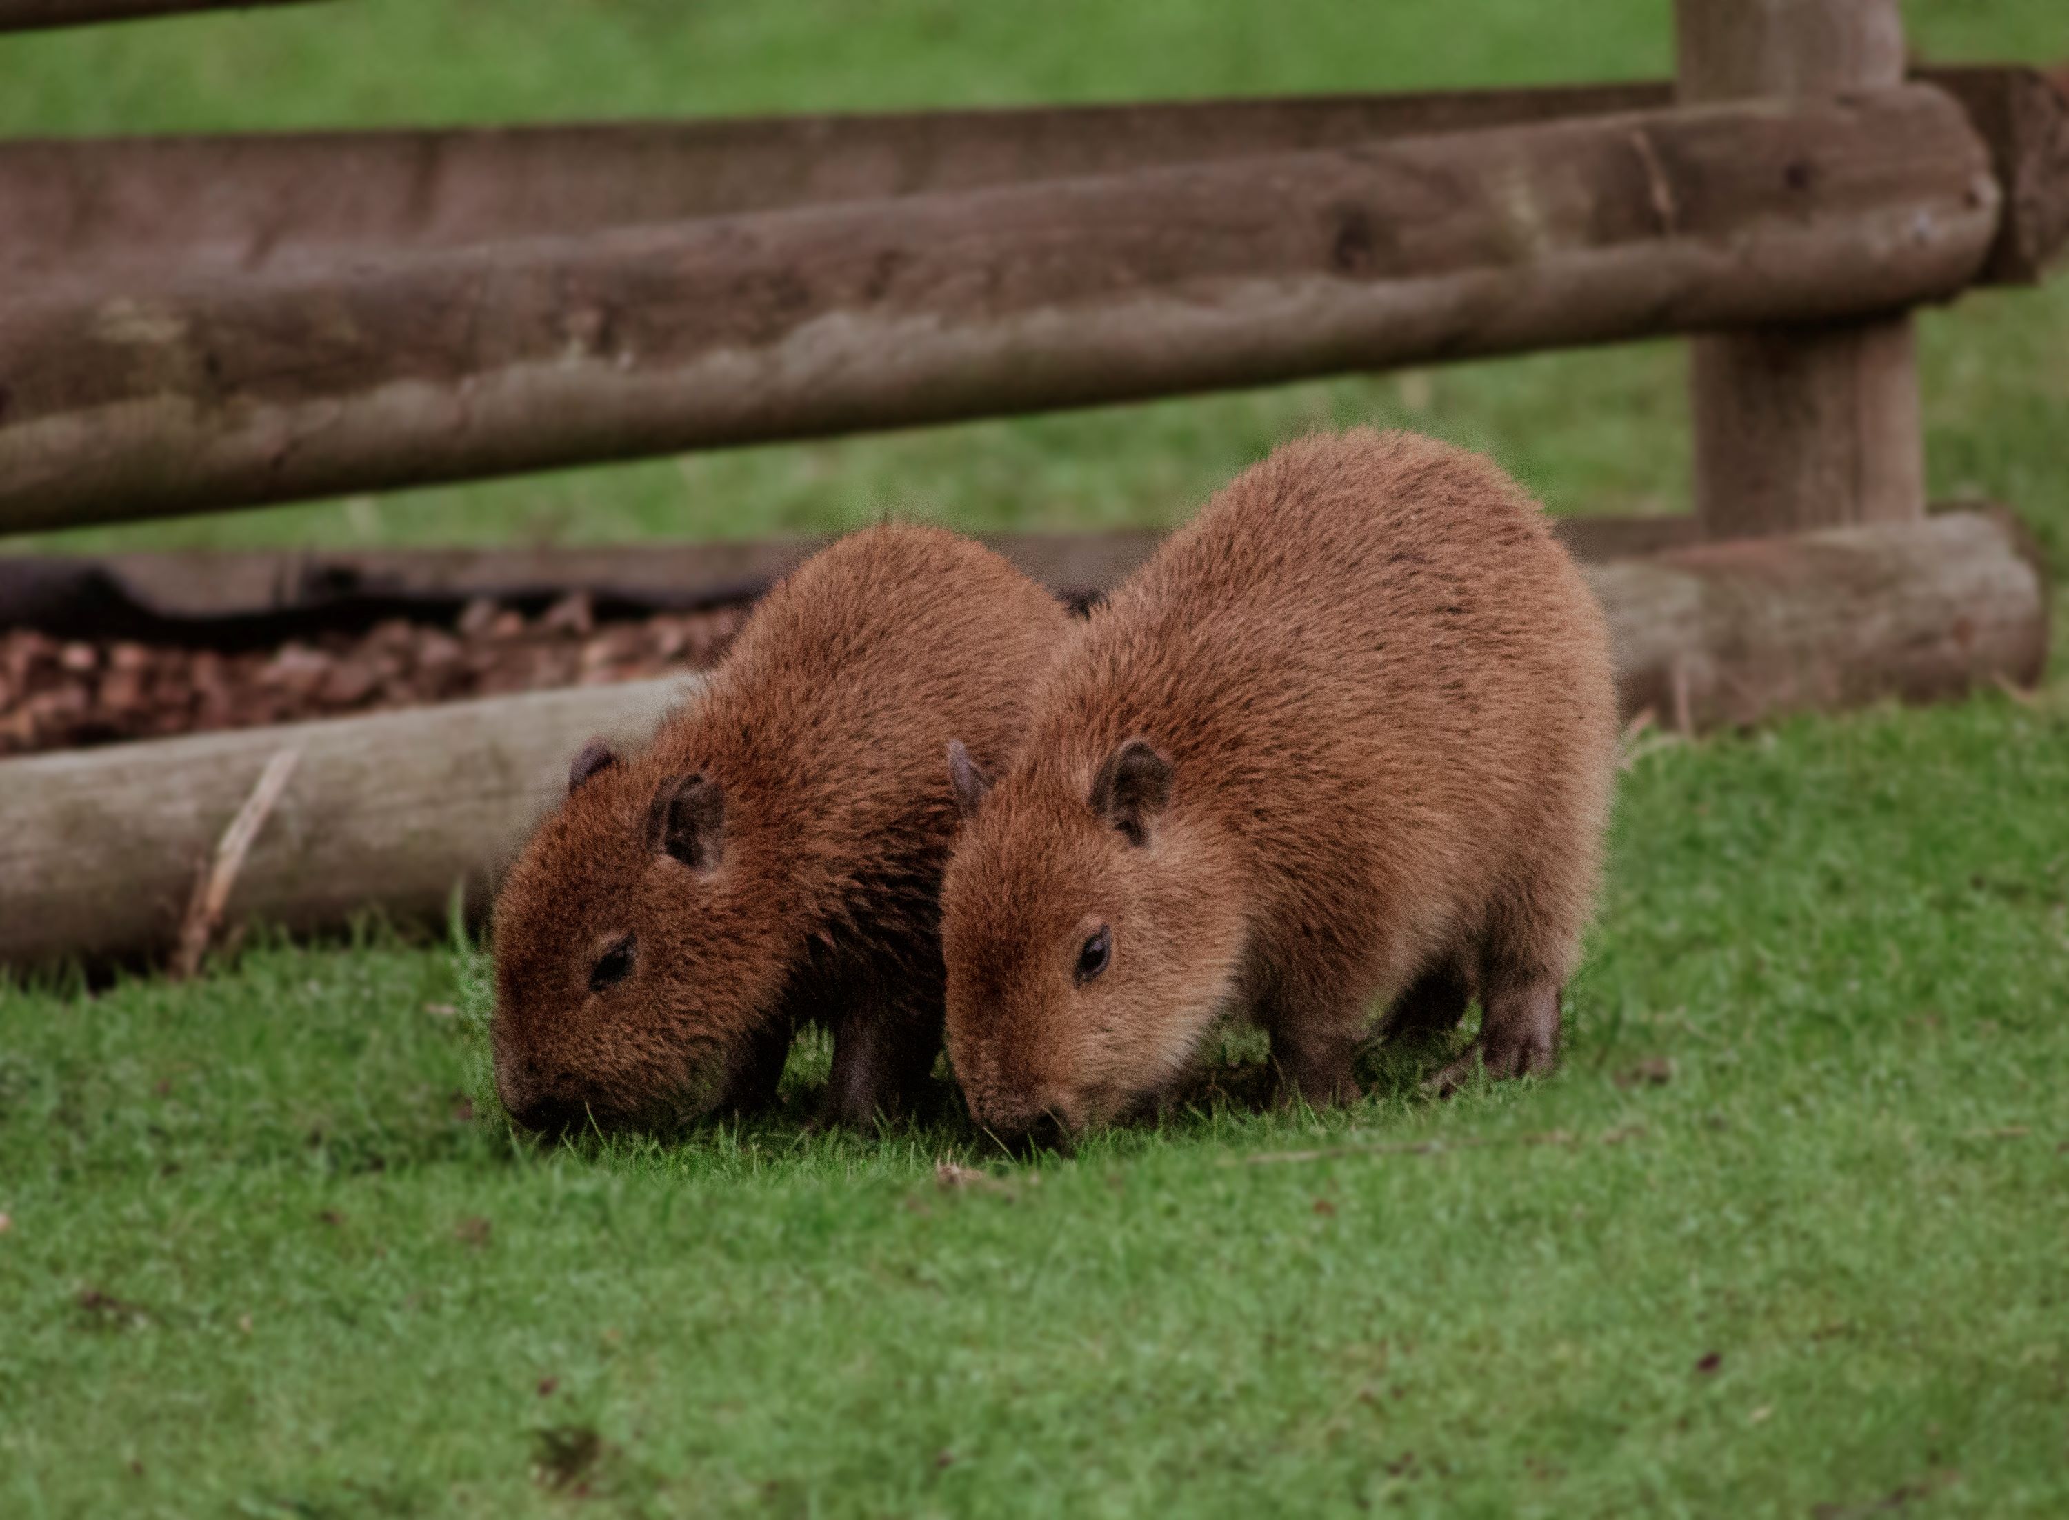
[[[2069,240],[2069,101],[2032,68],[1924,68],[2011,192],[1984,279]],[[0,143],[0,290],[252,275],[341,252],[598,232],[778,207],[1661,110],[1666,81],[865,116]]]

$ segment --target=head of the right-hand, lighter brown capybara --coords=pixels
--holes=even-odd
[[[1097,765],[1026,755],[989,786],[960,744],[941,883],[948,1053],[1001,1139],[1138,1108],[1192,1063],[1243,949],[1227,842],[1148,738]]]

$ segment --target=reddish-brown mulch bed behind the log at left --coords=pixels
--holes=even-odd
[[[701,670],[745,616],[722,606],[598,622],[588,596],[536,616],[482,600],[453,625],[397,618],[234,653],[10,629],[0,631],[0,755]]]

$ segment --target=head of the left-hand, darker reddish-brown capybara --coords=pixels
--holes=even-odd
[[[600,742],[497,902],[497,1094],[530,1129],[672,1129],[724,1102],[784,957],[716,776]]]

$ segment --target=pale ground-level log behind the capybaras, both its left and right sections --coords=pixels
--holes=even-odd
[[[1624,713],[1695,726],[1800,707],[2034,682],[2040,556],[2005,513],[1713,544],[1587,571],[1610,616]],[[259,833],[230,918],[292,929],[381,904],[480,908],[596,732],[635,742],[668,682],[0,761],[0,964],[161,953],[199,864],[267,761],[302,761]]]

